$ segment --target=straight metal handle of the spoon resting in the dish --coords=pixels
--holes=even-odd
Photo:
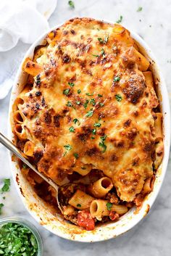
[[[7,149],[9,149],[12,153],[14,153],[18,158],[20,158],[20,160],[22,160],[22,162],[24,162],[25,165],[28,165],[28,167],[34,170],[34,172],[36,172],[38,176],[41,176],[41,178],[43,178],[43,180],[49,183],[49,185],[53,186],[54,189],[56,190],[58,189],[57,183],[52,181],[51,178],[47,177],[44,173],[40,173],[38,170],[36,170],[36,168],[34,168],[34,166],[31,165],[30,162],[28,162],[28,160],[25,159],[25,154],[21,152],[19,149],[17,149],[17,146],[14,146],[14,144],[12,144],[12,142],[9,141],[9,139],[7,139],[7,137],[5,137],[1,133],[0,133],[0,143],[3,144],[5,147],[7,147]]]

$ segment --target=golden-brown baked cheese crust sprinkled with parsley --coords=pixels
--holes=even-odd
[[[138,70],[133,39],[128,44],[113,29],[75,18],[49,33],[36,59],[43,72],[24,96],[23,127],[39,171],[59,183],[78,168],[102,170],[131,202],[153,175],[158,99]]]

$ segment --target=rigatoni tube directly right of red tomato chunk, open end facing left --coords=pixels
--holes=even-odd
[[[107,210],[107,200],[96,199],[91,202],[90,206],[91,216],[97,220],[101,220],[102,217],[109,215]]]

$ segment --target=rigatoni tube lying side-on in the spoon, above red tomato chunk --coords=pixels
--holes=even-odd
[[[70,198],[69,204],[77,209],[86,210],[90,207],[93,199],[94,198],[89,196],[89,194],[86,194],[78,189],[75,194],[73,194],[73,196]]]

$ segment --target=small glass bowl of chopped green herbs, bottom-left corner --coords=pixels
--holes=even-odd
[[[20,218],[0,220],[0,255],[41,256],[42,242],[36,229]]]

